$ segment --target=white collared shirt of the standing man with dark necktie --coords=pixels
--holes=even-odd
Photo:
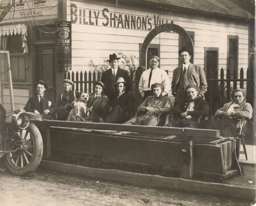
[[[151,85],[155,83],[162,83],[164,85],[163,95],[168,94],[170,90],[170,81],[166,71],[160,68],[153,69],[151,81],[150,81],[150,87],[148,87],[150,72],[151,72],[151,69],[147,69],[146,71],[143,71],[143,73],[141,74],[140,83],[139,83],[139,92],[142,93],[143,91],[151,90]]]

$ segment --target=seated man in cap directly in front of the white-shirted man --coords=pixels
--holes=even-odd
[[[163,96],[164,85],[162,83],[152,84],[151,89],[154,96],[148,96],[137,108],[138,112],[143,115],[134,117],[124,124],[156,126],[158,124],[158,114],[161,112],[168,113],[170,110],[170,98]]]

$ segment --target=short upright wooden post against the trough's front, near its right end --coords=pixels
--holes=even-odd
[[[187,136],[186,128],[183,128],[181,138],[180,177],[185,179],[192,179],[193,173],[193,141],[191,136]]]

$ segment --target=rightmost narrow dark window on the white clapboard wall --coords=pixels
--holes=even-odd
[[[227,68],[231,76],[234,68],[238,68],[238,36],[227,36]]]

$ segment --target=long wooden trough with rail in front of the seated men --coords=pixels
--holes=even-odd
[[[217,130],[44,120],[41,131],[46,159],[60,151],[179,171],[184,178],[237,172],[236,141]]]

